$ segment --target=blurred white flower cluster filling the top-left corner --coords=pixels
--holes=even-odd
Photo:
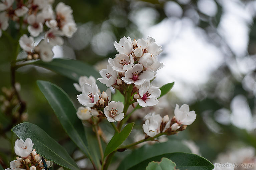
[[[0,37],[2,30],[8,28],[9,19],[19,23],[19,29],[26,27],[31,36],[22,35],[19,44],[28,54],[27,60],[40,58],[44,62],[50,62],[54,55],[53,46],[62,46],[62,36],[72,37],[77,30],[71,7],[60,2],[54,11],[52,3],[53,0],[28,0],[25,3],[21,0],[2,0],[0,3]],[[44,39],[35,46],[33,37],[43,32]]]

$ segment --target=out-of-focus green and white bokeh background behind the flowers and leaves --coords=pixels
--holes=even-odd
[[[55,0],[54,7],[58,3]],[[175,85],[150,111],[173,115],[175,104],[190,105],[196,121],[187,130],[169,138],[179,138],[191,150],[214,162],[255,163],[256,167],[256,1],[252,0],[62,0],[73,9],[78,30],[54,47],[55,58],[66,57],[106,68],[108,57],[117,53],[113,43],[123,36],[131,39],[153,37],[164,50],[164,63],[154,84]],[[43,36],[43,35],[42,35]],[[0,38],[0,86],[10,88],[10,53],[4,35]],[[46,69],[25,66],[18,69],[22,99],[27,103],[24,121],[34,123],[64,145],[70,154],[75,146],[63,131],[36,80],[53,82],[66,91],[75,105],[79,94],[74,81]],[[10,120],[1,103],[0,127]],[[131,120],[131,121],[132,121]],[[137,124],[142,127],[142,124]],[[54,129],[54,130],[53,130]],[[142,132],[142,129],[141,129]],[[16,140],[9,130],[1,132],[2,165],[13,160]],[[81,165],[84,166],[85,165]]]

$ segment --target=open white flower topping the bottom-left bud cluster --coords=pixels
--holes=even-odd
[[[33,150],[33,143],[30,138],[27,138],[25,142],[22,139],[17,139],[14,144],[14,152],[16,155],[26,158]]]

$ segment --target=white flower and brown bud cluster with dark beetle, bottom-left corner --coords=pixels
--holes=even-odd
[[[43,162],[40,160],[40,155],[33,149],[33,143],[30,138],[25,142],[22,139],[16,140],[14,152],[20,157],[17,160],[10,162],[10,168],[5,170],[41,170],[44,168]],[[50,161],[46,161],[47,167],[50,167]]]

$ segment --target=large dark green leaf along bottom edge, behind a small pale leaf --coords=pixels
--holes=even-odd
[[[176,152],[149,158],[129,168],[129,170],[145,169],[149,162],[160,161],[163,157],[171,159],[173,162],[175,162],[177,165],[176,168],[179,168],[180,170],[212,170],[214,168],[214,165],[211,162],[199,155],[195,155],[192,153]]]

